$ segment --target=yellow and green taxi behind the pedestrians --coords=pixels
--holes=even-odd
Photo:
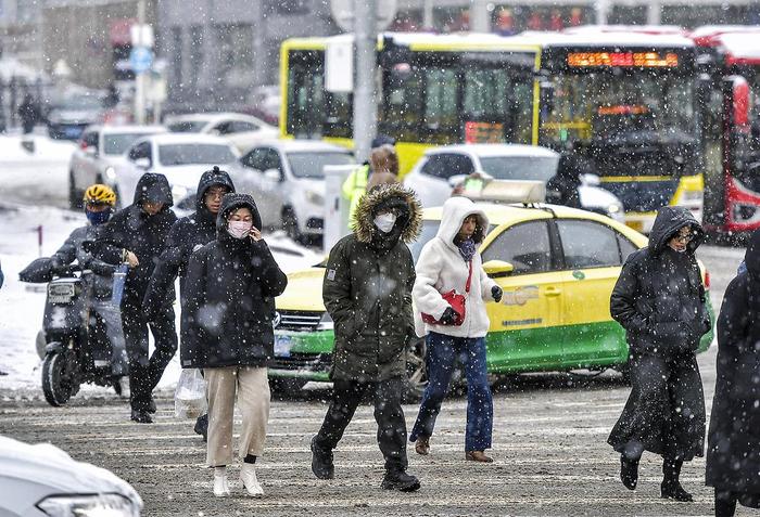
[[[478,203],[491,227],[480,247],[485,272],[504,289],[489,302],[490,374],[616,369],[625,372],[623,328],[609,312],[622,263],[647,237],[608,217],[565,206]],[[422,232],[410,245],[417,260],[438,232],[441,207],[423,210]],[[709,276],[704,271],[706,288]],[[325,262],[288,275],[277,297],[273,386],[293,391],[308,380],[328,380],[333,323],[321,299]],[[710,297],[706,297],[714,321]],[[701,339],[706,350],[712,332]],[[425,387],[425,344],[407,351],[409,399]]]

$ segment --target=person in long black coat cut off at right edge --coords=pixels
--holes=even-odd
[[[718,316],[718,376],[707,441],[706,484],[715,516],[736,503],[760,507],[760,231],[745,254],[746,270],[731,281]]]

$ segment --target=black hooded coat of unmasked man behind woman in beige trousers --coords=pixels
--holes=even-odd
[[[216,238],[216,216],[206,208],[204,196],[212,186],[226,186],[235,192],[235,185],[229,175],[218,167],[207,170],[201,176],[195,194],[195,211],[178,219],[169,231],[166,249],[161,254],[159,263],[151,275],[148,292],[142,300],[143,312],[151,320],[165,303],[172,303],[174,281],[179,276],[179,296],[185,292],[190,255]],[[173,293],[173,292],[172,292]]]

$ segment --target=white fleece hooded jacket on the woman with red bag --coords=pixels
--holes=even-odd
[[[483,337],[489,332],[489,316],[485,312],[485,301],[493,300],[491,288],[496,283],[489,279],[483,271],[483,260],[480,253],[472,257],[472,280],[469,294],[465,293],[469,264],[459,255],[459,248],[454,244],[454,237],[459,232],[461,223],[468,216],[478,217],[480,228],[487,232],[489,219],[478,209],[472,201],[466,197],[452,197],[443,204],[441,225],[438,234],[422,247],[417,260],[417,280],[411,289],[415,301],[415,332],[419,337],[429,332],[455,337]],[[431,314],[436,320],[441,318],[448,303],[441,293],[455,289],[465,295],[465,321],[461,325],[436,325],[422,321],[422,313]]]

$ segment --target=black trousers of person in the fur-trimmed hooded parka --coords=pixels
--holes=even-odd
[[[385,470],[406,470],[406,421],[401,406],[403,388],[404,382],[401,377],[377,383],[335,379],[332,402],[317,434],[316,445],[325,450],[338,447],[356,408],[367,390],[371,390],[375,399],[375,421],[378,423],[378,445],[385,458]]]

